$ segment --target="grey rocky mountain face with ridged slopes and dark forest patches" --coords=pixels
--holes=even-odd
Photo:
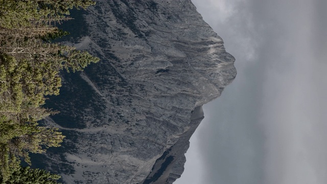
[[[43,123],[66,139],[37,159],[66,183],[173,183],[235,59],[191,0],[99,0],[84,18],[75,46],[101,61],[62,74],[47,102],[60,113]]]

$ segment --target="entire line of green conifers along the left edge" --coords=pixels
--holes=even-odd
[[[0,183],[57,183],[59,175],[21,167],[29,153],[58,147],[64,135],[39,120],[57,113],[42,107],[59,95],[61,72],[82,71],[99,58],[53,40],[68,33],[55,25],[91,0],[0,0]]]

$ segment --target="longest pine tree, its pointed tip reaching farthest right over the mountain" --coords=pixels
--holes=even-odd
[[[60,71],[82,71],[99,58],[66,45],[42,40],[17,40],[0,48],[0,97],[7,97],[6,109],[19,110],[24,103],[43,105],[47,95],[58,95]],[[1,94],[2,93],[2,94]],[[0,112],[2,111],[0,103]]]

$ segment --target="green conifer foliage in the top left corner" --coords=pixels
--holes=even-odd
[[[0,0],[0,27],[28,28],[33,24],[60,22],[74,7],[86,9],[91,0]]]

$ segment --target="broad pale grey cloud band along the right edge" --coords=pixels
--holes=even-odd
[[[283,9],[277,20],[284,29],[282,51],[277,60],[269,54],[264,55],[273,61],[263,68],[261,122],[267,135],[266,183],[327,182],[322,174],[327,164],[321,163],[327,153],[322,141],[327,139],[327,129],[323,126],[326,117],[321,117],[324,114],[321,109],[327,107],[323,100],[326,85],[318,82],[325,77],[319,68],[327,58],[317,55],[313,45],[327,48],[325,43],[313,39],[323,36],[316,34],[321,33],[322,27],[314,26],[314,22],[323,20],[314,16],[318,10],[314,4],[300,1],[294,7],[288,2],[281,3]],[[287,12],[289,9],[292,11]]]

